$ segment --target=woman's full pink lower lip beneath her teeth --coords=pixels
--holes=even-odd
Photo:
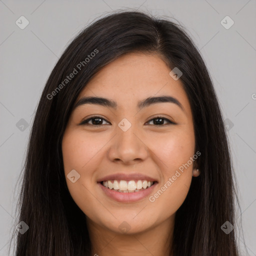
[[[146,196],[148,196],[154,189],[157,182],[155,182],[150,187],[143,189],[141,191],[127,192],[127,193],[118,192],[118,191],[109,189],[109,188],[103,186],[100,182],[98,182],[98,184],[99,184],[100,188],[105,192],[105,194],[107,196],[111,197],[112,199],[114,199],[118,202],[134,202],[134,201],[141,200],[141,199],[145,198]]]

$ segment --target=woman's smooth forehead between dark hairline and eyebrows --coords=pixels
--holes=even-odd
[[[169,95],[190,108],[180,80],[174,80],[170,68],[156,54],[126,53],[113,60],[86,84],[77,100],[83,96],[114,99],[117,105],[136,105],[145,97]]]

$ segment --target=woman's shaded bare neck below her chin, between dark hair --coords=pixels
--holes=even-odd
[[[172,255],[170,241],[174,228],[174,215],[153,228],[132,234],[113,232],[87,217],[86,222],[91,241],[91,256]]]

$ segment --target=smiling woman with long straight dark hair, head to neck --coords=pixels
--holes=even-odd
[[[23,175],[17,256],[238,255],[219,104],[169,20],[122,11],[79,33],[42,92]]]

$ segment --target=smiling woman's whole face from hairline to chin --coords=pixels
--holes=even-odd
[[[170,71],[158,55],[128,53],[79,94],[62,154],[69,192],[90,222],[118,233],[160,225],[175,215],[198,175],[189,101]],[[163,96],[170,100],[144,101]]]

